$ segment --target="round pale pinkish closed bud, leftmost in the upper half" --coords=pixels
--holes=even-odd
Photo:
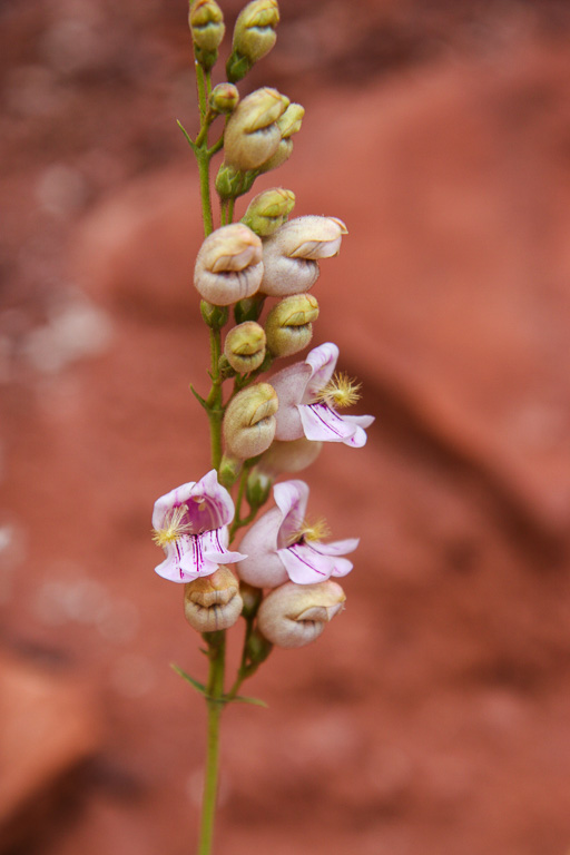
[[[208,303],[228,306],[255,294],[262,276],[262,242],[243,223],[233,223],[204,240],[194,284]]]

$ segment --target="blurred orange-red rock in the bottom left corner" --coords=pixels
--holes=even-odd
[[[0,653],[0,852],[41,839],[100,739],[81,686]]]

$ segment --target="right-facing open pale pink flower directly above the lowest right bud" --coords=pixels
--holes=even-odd
[[[244,537],[240,549],[247,558],[237,572],[257,588],[275,588],[291,579],[314,584],[332,576],[346,576],[352,562],[342,558],[358,546],[357,538],[323,543],[323,521],[307,523],[308,487],[304,481],[283,481],[273,488],[276,508],[264,513]]]

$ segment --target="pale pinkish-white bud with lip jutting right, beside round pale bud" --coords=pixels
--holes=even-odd
[[[335,217],[296,217],[264,240],[264,275],[259,291],[275,297],[302,294],[318,278],[320,258],[338,255],[348,234]]]

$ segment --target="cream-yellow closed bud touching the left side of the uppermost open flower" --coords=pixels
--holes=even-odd
[[[256,383],[238,392],[224,416],[226,453],[248,460],[269,448],[275,436],[278,401],[268,383]]]

